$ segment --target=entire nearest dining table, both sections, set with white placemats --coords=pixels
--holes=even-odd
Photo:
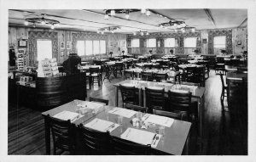
[[[188,121],[82,100],[73,100],[55,109],[49,109],[42,115],[44,116],[46,154],[50,154],[48,115],[59,120],[71,120],[74,115],[77,115],[71,121],[74,127],[76,154],[80,154],[80,149],[83,147],[79,129],[77,129],[80,124],[96,131],[109,131],[112,137],[141,144],[146,142],[151,145],[152,154],[181,155],[189,152],[191,123]]]

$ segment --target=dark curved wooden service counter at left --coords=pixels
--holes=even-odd
[[[17,84],[15,74],[32,75],[35,87]],[[52,109],[73,99],[85,100],[86,75],[84,72],[73,75],[37,77],[35,74],[14,71],[14,79],[9,79],[9,98],[18,105],[33,109]],[[14,87],[10,87],[14,86]]]

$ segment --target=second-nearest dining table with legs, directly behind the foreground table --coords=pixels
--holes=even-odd
[[[125,85],[128,87],[136,87],[139,92],[139,105],[146,107],[146,93],[145,87],[148,88],[164,88],[164,91],[167,93],[169,90],[183,90],[191,92],[192,98],[198,99],[198,114],[200,116],[200,135],[202,137],[202,121],[204,118],[204,94],[206,91],[205,87],[196,87],[196,86],[189,86],[183,84],[173,84],[173,83],[166,83],[166,82],[155,82],[155,81],[138,81],[138,80],[125,80],[120,81],[118,83],[113,84],[116,87],[116,95],[115,95],[115,105],[118,107],[119,105],[119,85]],[[143,95],[142,95],[143,94]],[[143,98],[142,98],[143,96]]]

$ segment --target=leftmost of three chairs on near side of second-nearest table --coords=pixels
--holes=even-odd
[[[123,108],[125,103],[138,104],[138,89],[136,87],[126,87],[119,85],[123,100]]]

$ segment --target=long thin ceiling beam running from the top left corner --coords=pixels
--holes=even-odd
[[[38,12],[32,12],[32,11],[26,11],[26,10],[20,10],[20,9],[9,9],[9,10],[16,11],[16,12],[23,12],[23,13],[26,12],[29,14],[42,14],[42,13],[38,13]],[[115,24],[101,23],[101,22],[96,22],[96,21],[91,21],[91,20],[81,20],[81,19],[69,18],[69,17],[59,16],[59,15],[54,15],[54,14],[42,14],[42,16],[45,16],[45,15],[55,17],[55,18],[67,19],[67,20],[80,20],[80,21],[84,21],[84,22],[90,22],[90,23],[101,24],[101,25],[113,25],[113,26],[121,26],[121,27],[123,26],[123,27],[132,28],[132,29],[138,29],[140,31],[154,31],[154,30],[147,30],[147,29],[138,28],[138,27],[134,27],[134,26],[128,26],[128,25],[115,25]],[[154,31],[154,32],[159,32],[159,31]]]

